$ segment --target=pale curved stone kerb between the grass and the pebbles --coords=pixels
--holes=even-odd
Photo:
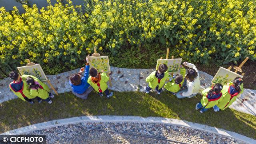
[[[221,128],[215,128],[212,126],[206,126],[203,124],[188,122],[185,120],[177,120],[177,119],[171,119],[171,118],[160,118],[160,117],[142,118],[140,116],[80,116],[80,117],[65,118],[65,119],[60,119],[60,120],[52,120],[52,121],[48,121],[48,122],[33,124],[33,125],[26,126],[23,128],[10,130],[10,131],[2,133],[2,134],[22,134],[22,133],[31,132],[34,130],[41,130],[41,129],[45,129],[45,128],[62,126],[62,125],[67,125],[67,124],[77,124],[80,122],[157,122],[157,123],[184,126],[187,128],[195,128],[198,130],[203,130],[203,131],[207,131],[207,132],[220,134],[222,136],[232,137],[232,138],[235,138],[242,142],[246,142],[248,144],[256,144],[256,140],[254,140],[252,138],[248,138],[248,137],[238,134],[236,132],[223,130]]]

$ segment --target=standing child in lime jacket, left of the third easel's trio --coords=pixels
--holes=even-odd
[[[165,81],[168,79],[169,74],[167,72],[168,68],[166,64],[160,64],[158,70],[152,72],[147,78],[146,82],[148,86],[145,92],[148,94],[151,89],[156,89],[157,94],[160,94]]]

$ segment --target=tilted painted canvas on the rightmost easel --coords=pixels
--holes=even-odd
[[[226,68],[220,67],[214,78],[212,79],[212,84],[222,84],[225,85],[228,82],[234,80],[236,77],[243,78],[240,74],[232,72]]]

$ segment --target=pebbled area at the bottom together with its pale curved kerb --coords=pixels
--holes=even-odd
[[[4,134],[46,134],[52,143],[255,144],[256,140],[220,128],[169,118],[81,116],[26,126]]]

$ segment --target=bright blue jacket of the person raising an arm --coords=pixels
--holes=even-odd
[[[84,94],[84,92],[89,88],[90,84],[88,84],[87,80],[89,78],[89,70],[90,66],[86,65],[84,68],[84,77],[81,78],[81,84],[75,86],[69,81],[69,84],[71,85],[72,90],[77,94]]]

